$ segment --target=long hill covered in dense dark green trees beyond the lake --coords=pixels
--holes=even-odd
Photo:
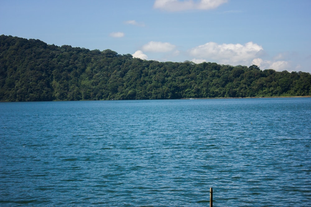
[[[0,36],[0,101],[308,96],[310,89],[304,72],[146,61]]]

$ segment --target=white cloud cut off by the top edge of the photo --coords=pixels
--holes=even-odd
[[[215,9],[226,2],[228,2],[228,0],[156,0],[153,7],[166,11],[207,10]]]

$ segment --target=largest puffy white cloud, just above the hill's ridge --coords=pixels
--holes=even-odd
[[[262,46],[248,42],[242,44],[217,44],[209,42],[190,50],[195,58],[212,59],[219,64],[249,65],[251,61],[263,52]]]

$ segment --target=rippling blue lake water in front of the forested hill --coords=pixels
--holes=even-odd
[[[0,206],[311,206],[311,98],[0,103]]]

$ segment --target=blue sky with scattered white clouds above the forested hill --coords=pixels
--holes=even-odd
[[[0,34],[156,60],[311,73],[310,0],[0,0]]]

